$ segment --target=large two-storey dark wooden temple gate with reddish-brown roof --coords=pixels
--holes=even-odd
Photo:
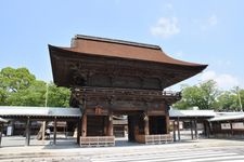
[[[206,68],[174,59],[157,45],[80,35],[70,48],[49,50],[54,82],[70,87],[70,106],[81,109],[81,146],[113,146],[113,117],[121,114],[128,116],[130,141],[170,140],[168,110],[181,96],[164,89]]]

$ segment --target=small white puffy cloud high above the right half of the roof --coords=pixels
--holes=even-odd
[[[156,25],[151,28],[153,36],[169,38],[180,32],[177,17],[160,17]]]

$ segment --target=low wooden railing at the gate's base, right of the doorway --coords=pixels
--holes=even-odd
[[[170,134],[136,135],[136,140],[143,144],[167,144],[172,143],[174,138]]]

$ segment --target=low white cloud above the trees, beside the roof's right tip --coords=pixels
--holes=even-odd
[[[203,72],[203,75],[201,76],[201,80],[215,80],[217,82],[217,85],[222,90],[230,90],[233,86],[240,85],[240,81],[237,78],[228,73],[217,75],[211,70]]]

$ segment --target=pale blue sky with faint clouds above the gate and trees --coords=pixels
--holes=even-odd
[[[0,68],[27,67],[51,81],[48,44],[69,46],[80,33],[157,44],[175,58],[209,65],[178,85],[214,79],[222,90],[243,89],[243,0],[2,0]]]

